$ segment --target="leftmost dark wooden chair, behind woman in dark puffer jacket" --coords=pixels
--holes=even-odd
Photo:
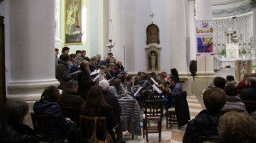
[[[64,142],[64,140],[55,140],[51,134],[52,123],[48,115],[37,115],[35,113],[31,113],[32,123],[34,130],[36,133],[41,135],[43,140],[49,142]]]

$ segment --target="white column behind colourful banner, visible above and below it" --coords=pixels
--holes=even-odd
[[[195,0],[196,20],[212,20],[212,0]],[[197,56],[197,73],[213,74],[213,55]]]

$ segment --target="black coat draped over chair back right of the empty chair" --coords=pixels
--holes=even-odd
[[[177,115],[177,124],[179,127],[189,123],[189,105],[187,101],[187,92],[183,91],[181,94],[177,95],[175,112]]]

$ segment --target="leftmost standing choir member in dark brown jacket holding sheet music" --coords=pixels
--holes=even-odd
[[[69,75],[69,69],[67,66],[69,55],[68,54],[61,54],[60,62],[57,65],[57,77],[60,85],[58,89],[65,90],[67,89],[66,84],[69,80],[73,79],[73,75]]]

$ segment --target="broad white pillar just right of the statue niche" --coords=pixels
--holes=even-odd
[[[186,20],[184,0],[170,2],[170,67],[179,74],[187,72]]]

